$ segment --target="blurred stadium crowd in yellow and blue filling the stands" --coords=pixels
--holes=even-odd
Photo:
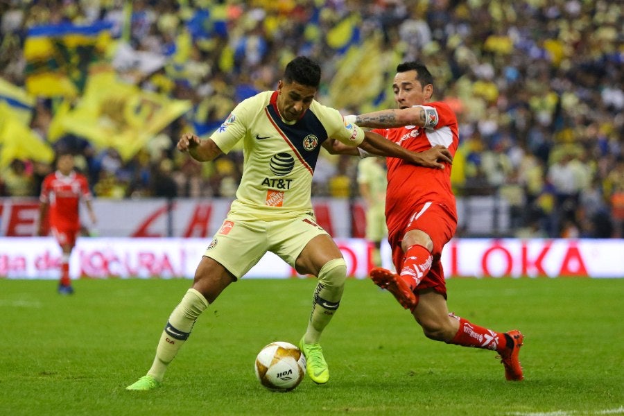
[[[97,198],[230,197],[241,151],[200,165],[175,151],[180,134],[218,128],[296,55],[321,62],[318,99],[344,114],[394,107],[396,64],[421,60],[460,121],[458,196],[508,200],[516,236],[622,238],[622,14],[607,0],[3,1],[0,78],[26,85],[31,28],[109,22],[119,77],[192,109],[129,158],[76,133],[51,141],[55,97],[37,97],[30,128],[76,154]],[[357,162],[324,154],[313,195],[357,197]],[[0,196],[37,196],[51,166],[9,161]]]

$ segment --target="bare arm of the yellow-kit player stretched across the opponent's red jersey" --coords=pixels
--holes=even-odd
[[[371,155],[398,157],[419,166],[436,169],[444,169],[443,162],[453,163],[453,156],[444,146],[437,145],[422,152],[413,152],[375,132],[364,134],[365,139],[358,147]]]

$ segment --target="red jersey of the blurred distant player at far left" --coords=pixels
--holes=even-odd
[[[87,178],[72,171],[65,176],[60,171],[47,175],[41,187],[41,202],[50,204],[50,225],[62,229],[80,229],[80,199],[90,200]]]

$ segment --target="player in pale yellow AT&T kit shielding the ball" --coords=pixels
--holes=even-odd
[[[340,304],[347,267],[336,243],[314,220],[310,194],[320,146],[325,141],[324,146],[329,146],[331,137],[369,153],[430,167],[437,166],[438,159],[450,161],[450,155],[441,146],[413,153],[345,123],[338,110],[315,101],[319,83],[319,65],[297,57],[286,66],[277,91],[261,92],[236,105],[209,139],[192,134],[180,137],[178,150],[200,162],[229,152],[243,140],[243,177],[191,288],[169,316],[152,367],[128,390],[157,388],[200,313],[268,251],[297,272],[318,277],[300,348],[311,379],[320,384],[329,380],[319,339]]]

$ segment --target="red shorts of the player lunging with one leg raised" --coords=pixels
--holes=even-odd
[[[444,298],[446,298],[447,284],[444,280],[444,269],[442,268],[440,258],[442,257],[442,248],[455,235],[457,229],[456,215],[454,211],[444,205],[433,202],[426,202],[417,206],[405,229],[398,230],[388,236],[388,241],[392,247],[392,262],[396,270],[403,268],[403,259],[405,257],[403,248],[401,248],[403,236],[413,229],[426,232],[431,237],[431,241],[433,241],[431,269],[420,281],[417,291],[433,288],[434,291],[444,295]]]

